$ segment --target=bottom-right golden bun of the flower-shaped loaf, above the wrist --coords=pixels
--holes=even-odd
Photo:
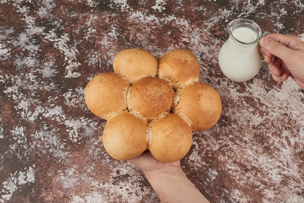
[[[162,162],[182,159],[192,144],[190,124],[177,114],[157,118],[149,126],[149,151]]]

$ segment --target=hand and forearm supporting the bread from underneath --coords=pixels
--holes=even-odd
[[[102,141],[102,135],[99,137]],[[141,169],[162,203],[209,203],[191,183],[181,168],[180,160],[165,163],[156,160],[149,150],[128,160]]]

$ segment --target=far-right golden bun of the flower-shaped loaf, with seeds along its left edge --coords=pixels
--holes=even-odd
[[[210,85],[188,84],[177,90],[173,112],[186,118],[193,131],[207,130],[220,119],[220,95]]]

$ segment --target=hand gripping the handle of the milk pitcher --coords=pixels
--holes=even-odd
[[[267,34],[260,39],[259,50],[276,82],[290,76],[304,89],[304,42],[299,37]]]

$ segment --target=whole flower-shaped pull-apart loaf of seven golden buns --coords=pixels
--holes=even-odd
[[[220,119],[220,96],[199,82],[200,65],[191,51],[172,50],[157,60],[148,51],[127,49],[115,56],[113,69],[89,81],[84,100],[107,120],[102,143],[114,159],[149,150],[162,162],[180,160],[190,150],[192,131]]]

